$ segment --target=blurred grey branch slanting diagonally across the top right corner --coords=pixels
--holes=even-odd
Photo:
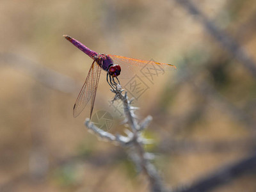
[[[177,3],[181,4],[188,10],[191,15],[197,15],[195,17],[198,19],[202,26],[207,30],[209,34],[212,35],[220,44],[238,61],[240,61],[244,67],[248,69],[248,71],[253,75],[256,79],[256,63],[253,61],[248,54],[248,52],[243,49],[242,45],[240,45],[234,38],[230,35],[227,35],[224,31],[221,31],[213,22],[211,22],[207,17],[202,13],[194,3],[189,0],[176,0]]]

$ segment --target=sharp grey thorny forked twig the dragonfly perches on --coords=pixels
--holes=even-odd
[[[136,115],[134,114],[134,110],[136,108],[131,106],[132,100],[129,100],[127,97],[127,92],[122,94],[124,90],[111,90],[115,93],[115,100],[122,100],[124,104],[124,113],[125,113],[125,123],[131,127],[130,130],[125,130],[127,136],[122,135],[113,135],[109,132],[102,131],[97,126],[95,126],[90,120],[87,118],[85,121],[86,127],[89,130],[93,131],[95,134],[104,138],[108,141],[117,143],[118,145],[128,148],[127,152],[129,157],[131,157],[132,161],[136,165],[138,171],[142,171],[147,175],[148,181],[150,183],[151,191],[165,191],[163,187],[163,183],[161,177],[157,173],[155,166],[150,163],[150,160],[154,159],[153,154],[149,154],[145,152],[143,145],[150,143],[150,140],[143,138],[141,131],[143,131],[148,124],[150,124],[152,117],[147,116],[140,124],[136,119]]]

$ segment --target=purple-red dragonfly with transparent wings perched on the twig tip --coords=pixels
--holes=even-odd
[[[83,51],[85,54],[92,58],[93,62],[89,69],[86,80],[79,92],[79,95],[76,99],[76,103],[73,108],[73,116],[77,117],[83,111],[85,106],[91,100],[91,110],[90,110],[90,118],[92,118],[93,106],[95,102],[95,96],[99,84],[100,73],[101,70],[105,70],[107,72],[106,80],[109,86],[113,90],[118,90],[120,88],[120,81],[118,76],[129,77],[132,72],[136,72],[138,68],[143,68],[145,65],[157,65],[161,68],[176,68],[174,65],[167,63],[158,63],[156,61],[145,61],[145,60],[137,60],[134,58],[127,58],[124,56],[117,56],[113,54],[98,54],[95,51],[92,51],[81,42],[77,41],[75,38],[72,38],[68,35],[63,35],[69,42],[75,45],[78,49]],[[126,68],[125,72],[121,74],[121,67]]]

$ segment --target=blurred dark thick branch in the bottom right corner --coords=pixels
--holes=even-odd
[[[204,192],[212,191],[212,189],[218,188],[218,186],[227,184],[237,177],[241,177],[245,174],[256,173],[256,154],[250,157],[246,157],[242,161],[231,164],[220,168],[217,172],[209,174],[207,177],[203,177],[195,184],[186,188],[183,186],[183,189],[177,189],[175,192]],[[245,189],[246,190],[246,189]]]

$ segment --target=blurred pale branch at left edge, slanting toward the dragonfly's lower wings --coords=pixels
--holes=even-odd
[[[0,53],[1,63],[8,63],[8,67],[18,69],[36,79],[45,86],[63,93],[74,95],[79,86],[72,78],[60,74],[50,68],[38,65],[22,56],[13,53]],[[75,95],[76,96],[76,95]]]

